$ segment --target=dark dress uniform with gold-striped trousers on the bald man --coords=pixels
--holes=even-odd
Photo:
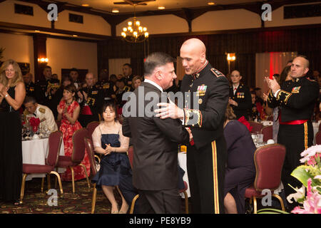
[[[224,213],[227,151],[223,122],[229,97],[228,79],[206,63],[197,73],[184,76],[180,90],[188,92],[183,125],[190,127],[194,141],[187,152],[193,213]]]

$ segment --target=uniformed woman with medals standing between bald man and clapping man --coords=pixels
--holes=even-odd
[[[248,120],[248,115],[252,106],[251,94],[248,86],[240,83],[242,76],[239,71],[232,71],[230,73],[230,99],[228,103],[233,108],[236,118],[244,116]]]

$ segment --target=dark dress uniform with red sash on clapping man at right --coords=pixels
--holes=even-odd
[[[300,153],[312,145],[311,117],[318,96],[318,83],[310,78],[301,77],[295,78],[294,81],[285,81],[276,97],[272,91],[267,97],[267,105],[270,108],[280,107],[277,142],[285,145],[287,150],[282,170],[286,195],[293,191],[287,184],[293,187],[302,185],[290,174],[295,167],[301,165]]]

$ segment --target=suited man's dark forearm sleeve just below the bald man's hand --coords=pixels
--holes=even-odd
[[[157,117],[154,117],[153,120],[170,141],[181,144],[187,144],[190,141],[190,135],[180,120],[173,120],[171,118],[161,119]]]

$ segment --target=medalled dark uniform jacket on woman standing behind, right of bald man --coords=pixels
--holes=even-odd
[[[233,93],[233,86],[230,85],[230,98],[238,103],[238,106],[231,105],[236,118],[239,119],[244,115],[248,120],[248,114],[250,113],[252,106],[251,94],[248,86],[240,83],[238,88],[235,90],[235,93]]]

